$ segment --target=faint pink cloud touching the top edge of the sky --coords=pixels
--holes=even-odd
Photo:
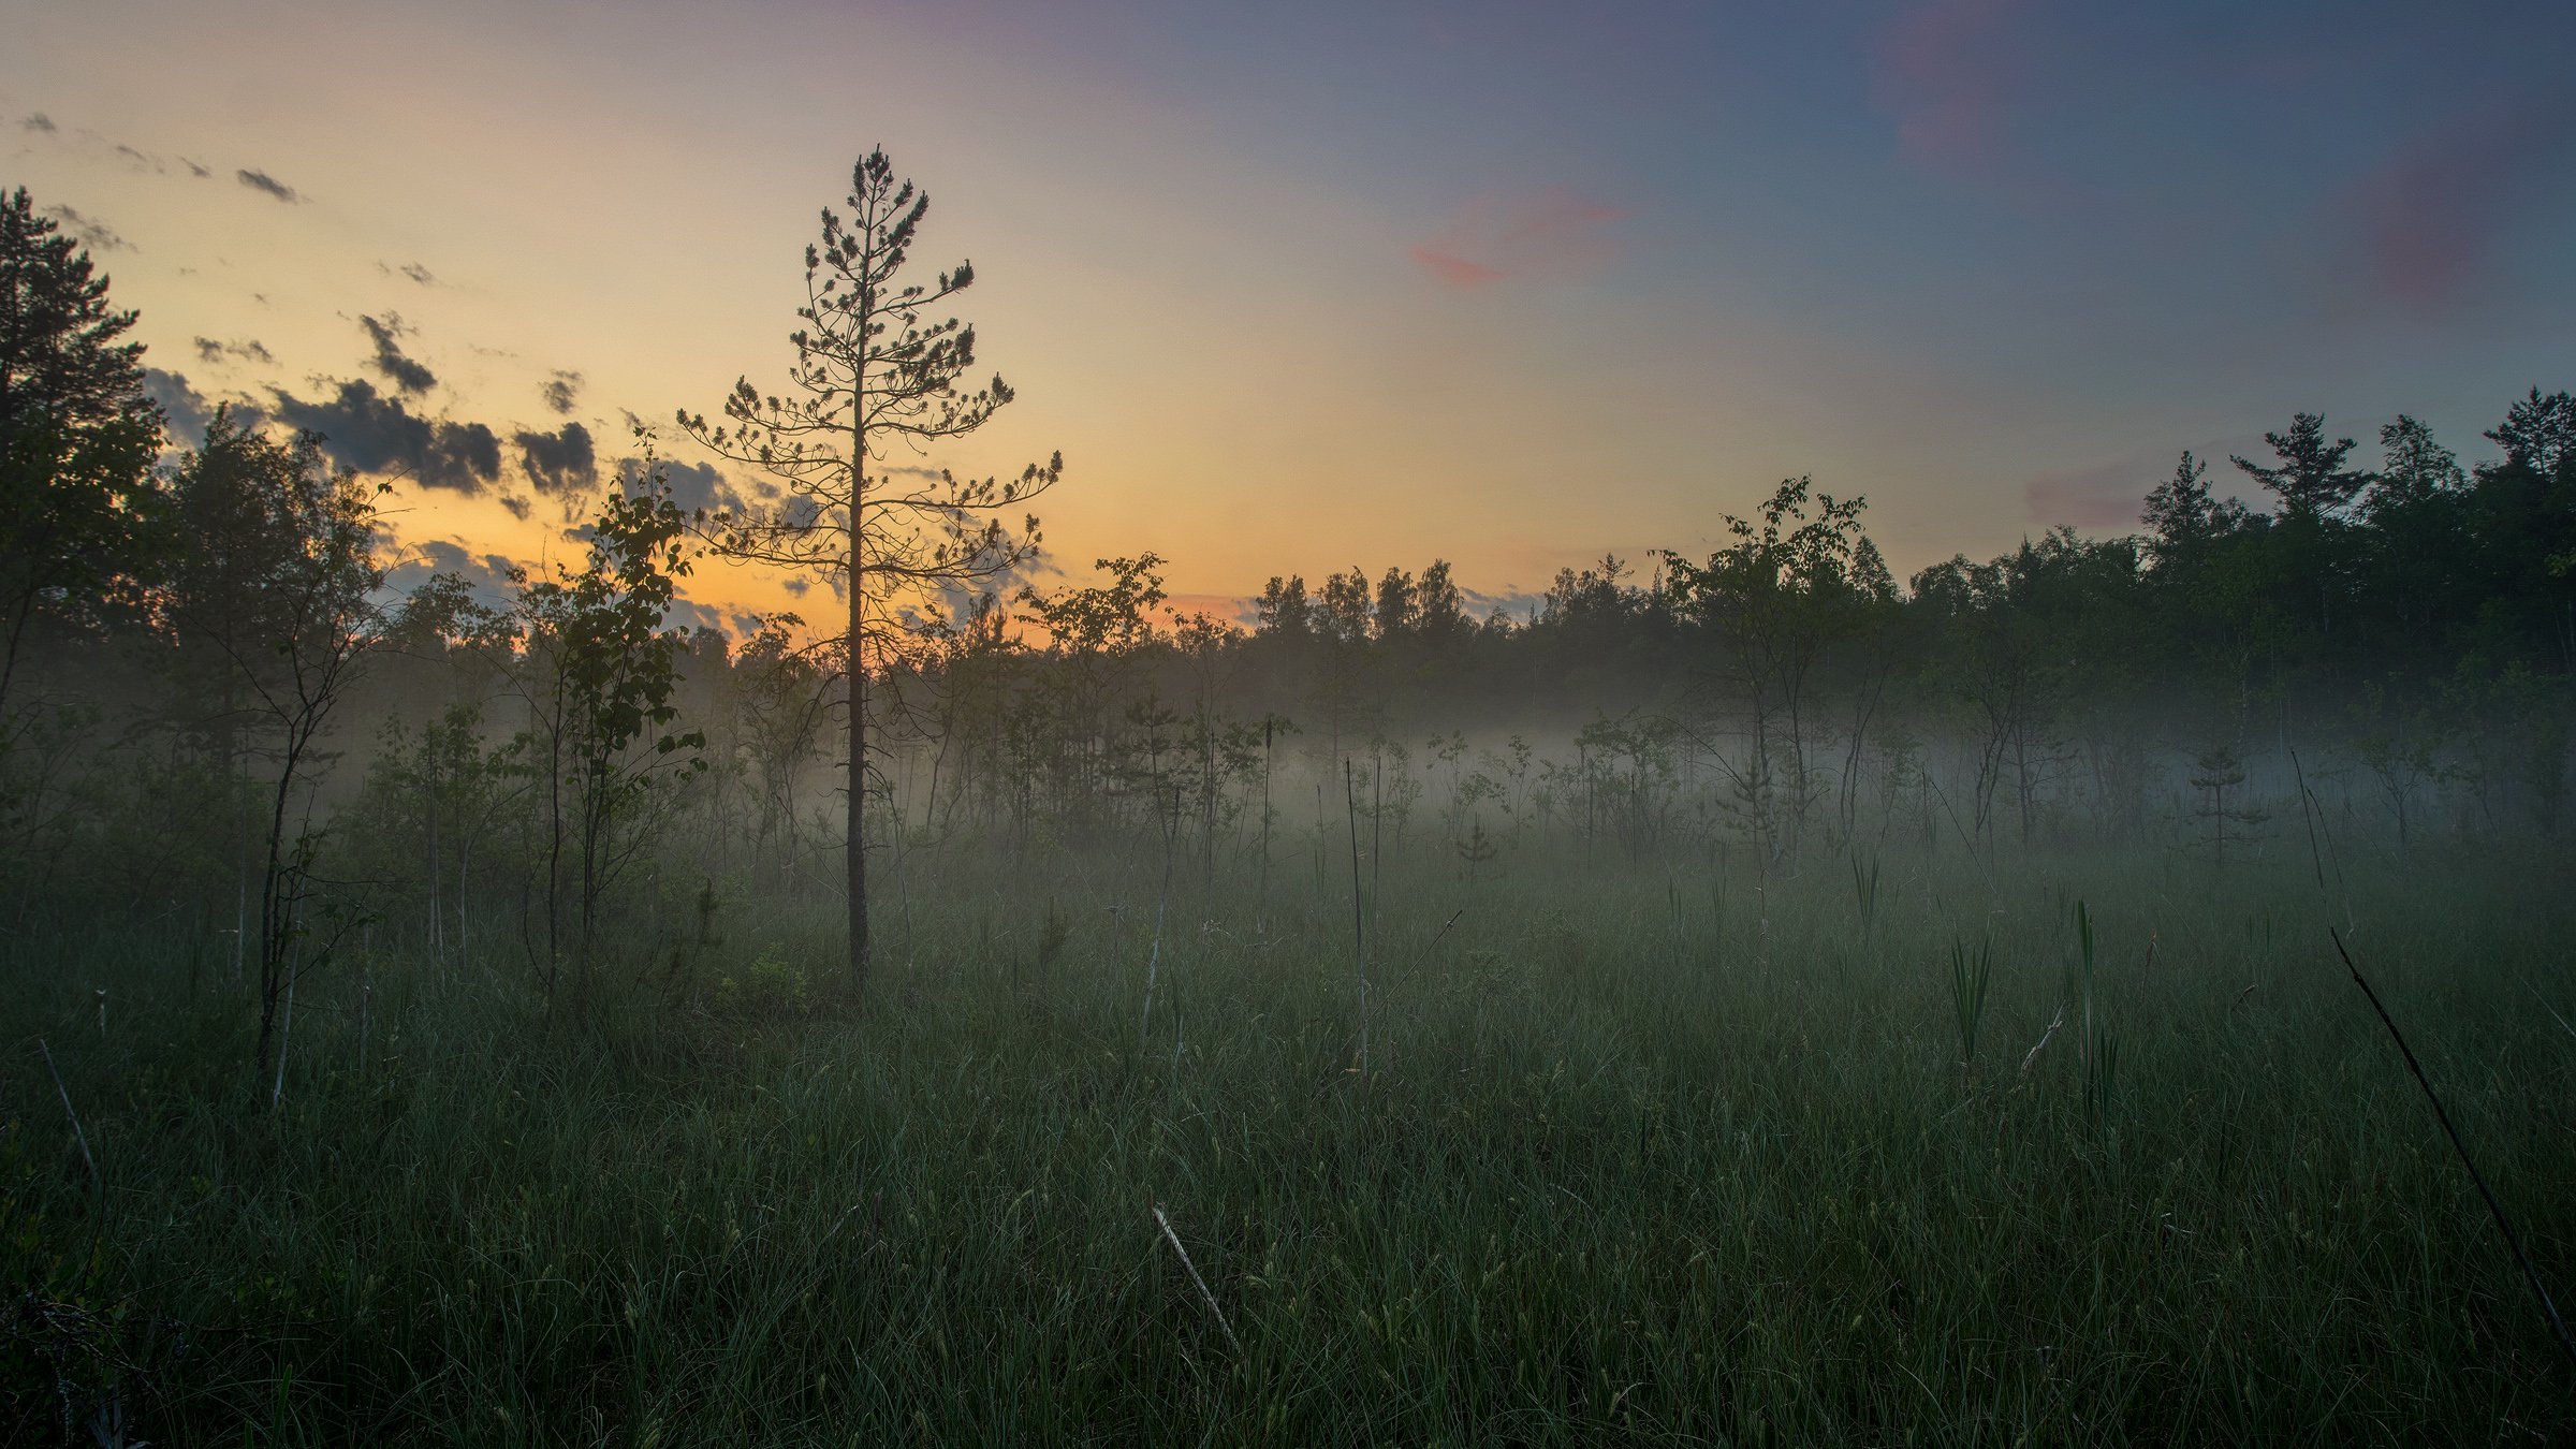
[[[2007,152],[2012,54],[2002,34],[2032,0],[1927,0],[1878,36],[1878,98],[1896,155],[1935,170],[1994,173]]]

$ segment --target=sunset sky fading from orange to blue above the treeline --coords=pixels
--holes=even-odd
[[[0,186],[175,418],[319,428],[402,474],[404,578],[489,575],[574,549],[631,420],[783,384],[881,144],[1018,389],[922,462],[1061,451],[1056,567],[1525,603],[1793,474],[1906,575],[2130,531],[2298,410],[2491,456],[2576,387],[2571,54],[2563,0],[90,0],[10,21]],[[688,596],[832,614],[793,588]]]

